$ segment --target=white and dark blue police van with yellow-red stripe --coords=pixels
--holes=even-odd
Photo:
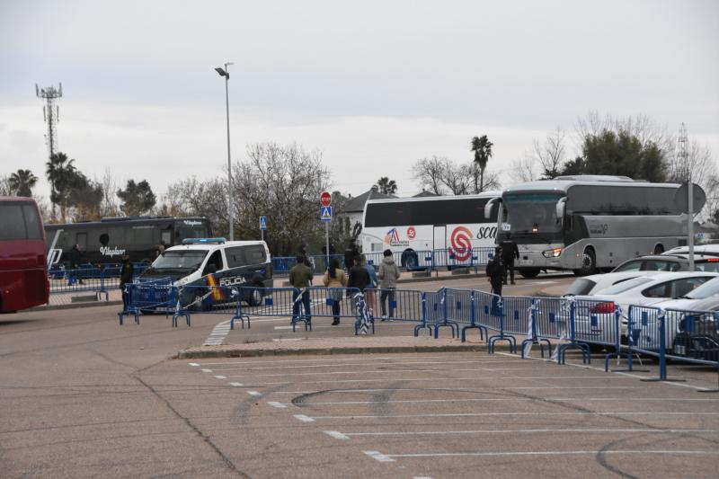
[[[181,246],[167,248],[157,256],[138,281],[156,279],[170,279],[174,286],[187,287],[183,297],[209,297],[209,301],[214,297],[215,302],[231,298],[209,287],[236,287],[244,302],[257,306],[262,302],[262,288],[273,285],[270,250],[263,241],[188,238]],[[208,295],[213,289],[215,294]],[[208,306],[209,301],[203,300],[203,305]]]

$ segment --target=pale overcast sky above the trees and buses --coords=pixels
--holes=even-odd
[[[89,176],[221,174],[260,141],[324,152],[333,189],[419,191],[419,158],[506,172],[560,126],[644,113],[719,157],[719,2],[0,0],[0,174],[44,179],[35,84],[63,84],[59,150]],[[505,184],[510,182],[505,174]]]

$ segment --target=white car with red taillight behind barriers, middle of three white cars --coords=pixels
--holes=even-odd
[[[577,329],[584,328],[583,323],[591,323],[593,326],[598,315],[600,319],[608,321],[606,315],[616,313],[618,306],[622,323],[621,334],[626,335],[629,306],[654,306],[668,299],[683,297],[692,289],[717,277],[719,273],[700,271],[657,273],[627,279],[601,289],[592,296],[574,297],[575,302],[583,306],[576,309]]]

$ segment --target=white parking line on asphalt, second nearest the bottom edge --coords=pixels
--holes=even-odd
[[[340,432],[339,430],[324,430],[324,433],[332,436],[335,439],[350,439],[352,436],[446,436],[446,435],[458,435],[458,434],[546,434],[546,433],[570,433],[580,432],[582,434],[607,434],[607,433],[618,433],[628,432],[636,433],[642,432],[646,434],[666,434],[666,433],[706,433],[715,434],[719,430],[704,430],[704,429],[613,429],[613,428],[571,428],[571,429],[519,429],[519,430],[421,430],[416,432],[408,431],[383,431],[383,432]]]

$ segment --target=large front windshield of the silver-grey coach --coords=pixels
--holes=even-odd
[[[504,196],[505,222],[512,235],[556,233],[562,223],[556,217],[556,203],[564,195],[555,193],[518,193]],[[502,229],[506,230],[507,226]]]

